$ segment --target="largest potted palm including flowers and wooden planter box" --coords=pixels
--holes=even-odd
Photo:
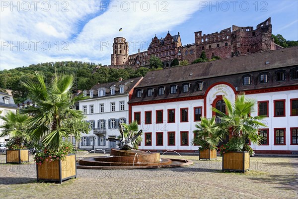
[[[57,75],[48,87],[44,77],[36,73],[37,82],[26,82],[29,96],[36,106],[28,106],[23,111],[32,115],[28,120],[32,139],[42,142],[42,150],[35,155],[37,182],[62,181],[76,178],[75,155],[72,146],[63,141],[74,136],[80,139],[81,132],[88,133],[88,124],[83,122],[84,115],[75,110],[75,103],[85,99],[82,95],[72,94],[74,77]]]

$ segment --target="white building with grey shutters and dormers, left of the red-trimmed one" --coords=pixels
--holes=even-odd
[[[142,78],[120,79],[118,82],[97,84],[90,91],[84,91],[90,99],[79,101],[79,109],[86,115],[90,124],[89,134],[82,134],[80,149],[110,150],[116,148],[116,142],[106,139],[120,135],[119,123],[128,123],[128,101],[133,89]]]

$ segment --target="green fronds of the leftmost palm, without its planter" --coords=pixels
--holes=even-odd
[[[4,120],[3,124],[0,126],[0,128],[2,128],[0,137],[9,136],[11,144],[21,147],[25,142],[30,140],[30,136],[25,132],[26,124],[29,119],[27,114],[9,111],[5,116],[0,116],[0,118]]]

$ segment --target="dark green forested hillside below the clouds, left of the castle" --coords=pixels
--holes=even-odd
[[[117,81],[120,77],[126,80],[145,76],[149,71],[148,68],[117,70],[108,67],[100,67],[93,73],[93,70],[98,66],[101,66],[101,64],[67,61],[32,64],[28,67],[3,70],[0,71],[0,88],[11,89],[15,103],[21,103],[28,98],[27,90],[22,86],[21,82],[34,80],[35,71],[42,72],[46,80],[50,80],[55,75],[55,71],[57,71],[57,73],[74,74],[74,92],[76,90],[89,90],[97,83]]]

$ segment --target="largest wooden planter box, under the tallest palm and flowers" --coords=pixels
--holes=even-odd
[[[36,165],[37,182],[52,181],[59,182],[76,178],[75,154],[69,154],[65,160],[43,161],[41,165]],[[47,158],[48,160],[50,158]]]

